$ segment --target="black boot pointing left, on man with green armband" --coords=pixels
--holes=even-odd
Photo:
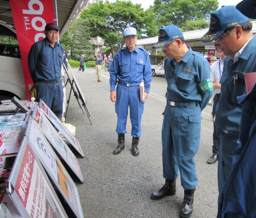
[[[165,196],[173,196],[176,194],[176,179],[165,179],[164,186],[151,194],[151,199],[162,199]]]

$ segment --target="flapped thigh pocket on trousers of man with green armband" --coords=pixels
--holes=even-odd
[[[200,139],[201,132],[201,115],[192,115],[189,116],[189,126],[188,126],[188,135],[187,141],[192,141],[196,139]]]

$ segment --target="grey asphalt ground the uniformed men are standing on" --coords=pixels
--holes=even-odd
[[[73,93],[66,123],[76,127],[85,158],[78,158],[84,183],[76,183],[84,217],[179,217],[183,188],[178,177],[175,196],[151,200],[150,194],[164,184],[162,177],[161,129],[166,104],[166,80],[153,77],[142,117],[140,154],[131,154],[131,124],[128,116],[125,149],[113,155],[117,146],[115,104],[110,101],[109,73],[102,71],[103,83],[96,83],[94,68],[73,72],[87,101],[92,125],[82,113]],[[67,94],[70,86],[67,86]],[[212,154],[213,123],[207,106],[202,112],[201,140],[195,155],[198,184],[194,196],[193,218],[217,215],[217,163],[207,164]]]

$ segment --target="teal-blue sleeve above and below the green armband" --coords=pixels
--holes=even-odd
[[[210,79],[210,66],[208,61],[203,61],[203,63],[199,65],[198,73],[199,73],[200,83],[204,83],[207,79]],[[210,101],[213,91],[202,93],[202,91],[200,90],[200,92],[202,95],[202,101],[199,103],[199,105],[202,111],[203,108],[205,108],[207,103]]]

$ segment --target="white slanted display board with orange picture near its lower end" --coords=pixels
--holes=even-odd
[[[33,151],[38,154],[37,157],[47,174],[68,203],[75,216],[82,218],[83,212],[75,183],[65,170],[60,159],[58,159],[34,119],[30,119],[28,122],[26,137]]]

